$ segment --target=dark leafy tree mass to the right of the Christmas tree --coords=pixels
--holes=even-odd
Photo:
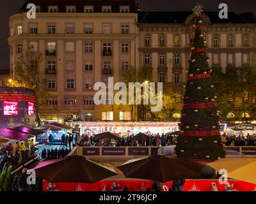
[[[227,113],[232,112],[237,115],[237,119],[247,121],[245,113],[253,115],[255,112],[256,69],[252,66],[228,68],[225,74],[214,70],[212,77],[221,120],[230,120],[227,119]]]

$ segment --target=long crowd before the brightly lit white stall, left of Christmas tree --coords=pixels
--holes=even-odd
[[[141,146],[167,146],[167,145],[174,145],[178,138],[177,136],[173,135],[164,135],[164,134],[151,134],[148,135],[148,140],[133,140],[134,135],[129,135],[127,137],[120,137],[118,139],[102,139],[102,140],[95,140],[94,135],[82,135],[76,142],[76,145],[79,147],[108,147],[108,146],[115,146],[115,147],[124,147],[124,146],[132,146],[132,147],[141,147]]]

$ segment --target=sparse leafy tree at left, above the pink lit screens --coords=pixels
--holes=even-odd
[[[34,52],[33,47],[28,47],[26,50],[22,50],[18,60],[14,70],[15,80],[10,87],[25,87],[35,91],[36,122],[40,125],[40,112],[44,109],[45,98],[49,96],[45,74],[40,69],[44,60],[43,54]]]

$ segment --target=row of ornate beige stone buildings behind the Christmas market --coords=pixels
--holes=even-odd
[[[26,17],[35,3],[36,18]],[[153,68],[154,82],[164,82],[182,96],[193,38],[193,12],[140,11],[134,1],[28,1],[10,17],[10,68],[15,76],[22,50],[33,47],[44,54],[52,97],[46,99],[44,120],[138,120],[131,106],[93,103],[93,85],[122,82],[129,68]],[[210,66],[223,71],[255,65],[255,21],[247,16],[204,12]]]

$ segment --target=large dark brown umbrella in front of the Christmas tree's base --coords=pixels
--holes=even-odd
[[[154,155],[131,159],[117,168],[125,177],[168,182],[175,179],[200,179],[204,165],[176,157]]]

